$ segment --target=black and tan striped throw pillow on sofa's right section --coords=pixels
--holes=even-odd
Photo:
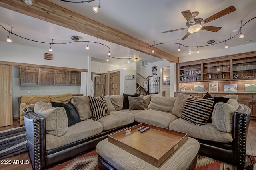
[[[214,103],[214,97],[208,99],[188,97],[181,118],[191,121],[196,125],[204,125],[209,119]]]

